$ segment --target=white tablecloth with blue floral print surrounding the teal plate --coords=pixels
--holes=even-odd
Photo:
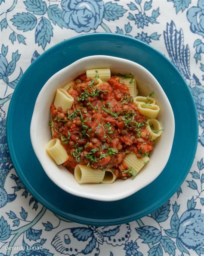
[[[0,0],[0,28],[0,256],[204,255],[204,0]],[[6,144],[9,101],[25,70],[49,47],[90,32],[132,36],[165,54],[199,118],[198,150],[181,188],[148,216],[112,227],[46,210],[19,180]]]

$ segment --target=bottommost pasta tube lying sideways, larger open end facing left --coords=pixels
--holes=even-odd
[[[100,183],[105,175],[105,171],[95,170],[90,166],[77,164],[74,169],[74,177],[78,183]]]

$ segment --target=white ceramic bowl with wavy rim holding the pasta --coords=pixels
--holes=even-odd
[[[111,74],[133,74],[136,77],[139,95],[147,96],[151,91],[154,91],[154,97],[161,108],[158,120],[164,128],[164,132],[155,144],[149,163],[133,180],[118,179],[113,184],[80,185],[75,181],[74,175],[62,165],[56,165],[46,152],[46,144],[51,139],[51,131],[48,126],[50,119],[49,107],[54,100],[56,89],[85,73],[87,69],[93,68],[110,68]],[[133,61],[96,55],[75,61],[49,78],[37,97],[30,133],[32,146],[38,160],[46,174],[57,186],[80,197],[100,201],[115,201],[132,195],[159,176],[170,156],[174,130],[175,123],[170,102],[158,81],[148,70]]]

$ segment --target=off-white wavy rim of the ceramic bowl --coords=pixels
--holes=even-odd
[[[135,68],[139,68],[143,73],[148,74],[148,76],[151,78],[151,80],[154,81],[155,87],[158,88],[158,90],[161,91],[162,94],[162,98],[165,101],[166,106],[168,107],[168,111],[169,111],[169,118],[172,122],[172,126],[171,126],[171,138],[170,140],[168,140],[168,152],[164,155],[164,162],[162,163],[161,167],[159,167],[159,172],[157,173],[157,175],[155,176],[151,176],[151,179],[145,180],[144,182],[142,182],[142,186],[139,186],[139,189],[129,189],[125,192],[121,192],[120,194],[115,194],[112,196],[107,197],[107,195],[95,195],[91,192],[86,192],[86,191],[82,191],[81,190],[77,190],[74,188],[69,188],[68,186],[66,187],[64,184],[62,184],[62,182],[58,179],[55,179],[54,176],[52,175],[52,173],[47,169],[47,164],[46,164],[46,160],[43,159],[43,157],[41,156],[41,154],[38,152],[38,147],[36,144],[36,140],[35,140],[35,134],[36,134],[36,121],[37,121],[37,113],[39,110],[39,106],[40,106],[40,102],[42,101],[42,97],[41,97],[41,93],[43,93],[44,91],[46,91],[46,87],[47,87],[47,83],[50,83],[50,81],[54,78],[54,77],[58,77],[60,75],[60,73],[62,73],[63,71],[66,71],[67,69],[69,69],[70,67],[74,67],[78,64],[80,64],[81,61],[94,61],[94,59],[98,60],[102,58],[103,60],[107,62],[108,60],[112,59],[114,61],[126,61],[126,63],[129,63],[130,65],[134,65]],[[83,57],[78,59],[77,61],[74,61],[73,63],[69,64],[68,66],[64,67],[63,69],[59,70],[58,72],[56,72],[55,74],[53,74],[52,77],[50,77],[46,83],[43,85],[43,87],[41,88],[40,92],[38,93],[35,105],[34,105],[34,110],[33,110],[33,114],[32,114],[32,118],[31,118],[31,125],[30,125],[30,137],[31,137],[31,144],[32,147],[34,149],[35,155],[37,157],[37,159],[39,160],[41,166],[43,167],[43,170],[45,171],[46,175],[49,177],[49,179],[51,179],[57,186],[59,186],[59,188],[63,189],[65,192],[68,192],[72,195],[75,196],[79,196],[79,197],[83,197],[83,198],[89,198],[92,200],[97,200],[97,201],[105,201],[105,202],[110,202],[110,201],[117,201],[117,200],[121,200],[123,198],[127,198],[130,195],[133,195],[134,193],[136,193],[137,191],[139,191],[140,189],[143,189],[145,186],[148,186],[151,182],[153,182],[160,174],[161,172],[164,170],[165,166],[167,165],[167,162],[169,160],[170,157],[170,153],[172,150],[172,146],[173,146],[173,139],[174,139],[174,134],[175,134],[175,118],[174,118],[174,114],[173,114],[173,109],[171,107],[171,104],[169,102],[169,99],[166,96],[166,93],[164,92],[164,90],[162,89],[160,83],[158,82],[158,80],[154,77],[153,74],[151,74],[150,71],[148,71],[145,67],[143,67],[142,65],[134,62],[134,61],[130,61],[124,58],[118,58],[118,57],[114,57],[114,56],[109,56],[109,55],[90,55],[87,57]],[[91,185],[90,185],[91,186]]]

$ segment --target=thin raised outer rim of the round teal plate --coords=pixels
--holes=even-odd
[[[145,210],[143,210],[139,215],[137,214],[138,216],[134,217],[136,215],[136,213],[135,213],[135,214],[132,214],[132,215],[129,215],[129,216],[126,216],[126,217],[121,217],[121,218],[116,218],[116,219],[111,219],[111,220],[94,219],[94,221],[91,221],[90,218],[84,218],[84,217],[80,217],[80,216],[77,216],[77,215],[65,213],[64,211],[60,211],[54,205],[51,205],[48,201],[44,200],[44,198],[42,198],[38,192],[35,192],[35,190],[32,189],[28,180],[24,176],[24,174],[22,172],[22,168],[19,166],[18,160],[15,157],[15,151],[12,148],[11,136],[9,136],[9,134],[11,133],[11,129],[9,129],[9,127],[11,127],[11,125],[10,125],[11,121],[10,120],[11,120],[12,105],[13,105],[13,102],[14,102],[15,95],[17,94],[17,91],[18,91],[18,88],[21,84],[21,81],[24,80],[24,77],[26,77],[27,73],[32,69],[32,67],[34,65],[36,65],[38,63],[38,61],[40,61],[41,59],[46,57],[46,55],[49,54],[49,52],[55,51],[57,48],[61,47],[61,45],[67,44],[68,42],[71,42],[71,41],[76,40],[76,39],[80,40],[80,38],[84,38],[84,37],[85,38],[86,37],[87,38],[89,38],[89,37],[96,37],[96,38],[99,37],[100,38],[101,36],[111,36],[111,37],[114,37],[114,38],[122,38],[124,41],[125,40],[130,40],[130,41],[136,42],[138,45],[142,45],[145,48],[151,49],[151,51],[155,51],[155,53],[160,58],[164,58],[164,60],[167,62],[167,64],[170,65],[173,68],[173,70],[182,79],[183,83],[185,83],[185,86],[187,87],[187,90],[189,91],[189,95],[192,99],[192,111],[194,112],[195,116],[198,117],[197,109],[196,109],[196,106],[195,106],[195,101],[193,99],[193,96],[192,96],[192,93],[189,89],[189,86],[185,82],[185,80],[182,77],[182,75],[180,74],[179,70],[174,66],[174,64],[164,54],[162,54],[160,51],[158,51],[157,49],[155,49],[151,45],[147,45],[146,43],[141,42],[141,41],[137,40],[136,38],[131,38],[131,37],[128,37],[126,35],[118,35],[118,34],[112,34],[112,33],[90,33],[90,34],[77,35],[77,36],[74,36],[72,38],[68,38],[68,39],[66,39],[62,42],[59,42],[56,45],[53,45],[48,50],[44,51],[43,54],[41,54],[25,70],[24,74],[22,75],[21,79],[19,80],[19,83],[15,87],[15,90],[12,94],[11,101],[9,103],[9,109],[8,109],[7,117],[6,117],[6,140],[7,140],[8,150],[9,150],[9,154],[10,154],[10,157],[11,157],[11,160],[12,160],[12,164],[14,166],[14,169],[15,169],[16,173],[18,174],[22,183],[25,185],[26,189],[28,189],[28,191],[31,193],[31,195],[33,195],[34,198],[36,198],[37,201],[40,202],[40,204],[42,204],[44,207],[46,207],[50,211],[54,212],[55,214],[58,214],[59,216],[65,218],[67,220],[70,220],[70,221],[74,221],[74,222],[77,222],[77,223],[80,223],[80,224],[85,224],[85,225],[95,225],[95,226],[107,226],[108,225],[108,226],[111,226],[111,225],[117,225],[117,224],[124,224],[124,223],[127,223],[127,222],[135,221],[136,219],[142,218],[142,217],[148,215],[149,213],[151,213],[152,211],[155,211],[156,209],[158,209],[161,205],[163,205],[165,202],[167,202],[167,200],[170,199],[175,194],[177,189],[179,189],[179,187],[184,182],[186,176],[188,175],[189,170],[191,169],[192,163],[193,163],[194,158],[195,158],[195,153],[196,153],[196,150],[197,150],[197,147],[198,147],[198,118],[195,118],[196,119],[196,122],[195,122],[196,134],[195,134],[195,137],[197,138],[197,140],[193,145],[194,147],[192,148],[192,154],[191,154],[192,157],[189,160],[188,168],[186,168],[185,175],[182,177],[181,181],[179,183],[176,183],[176,186],[173,187],[173,189],[166,195],[165,198],[163,198],[163,200],[160,200],[157,204],[155,203],[155,205],[153,207],[149,206],[149,207],[145,208]],[[111,203],[111,202],[109,202],[109,203]]]

